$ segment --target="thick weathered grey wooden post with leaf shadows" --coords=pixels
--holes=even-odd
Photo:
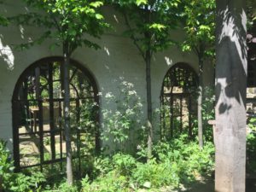
[[[244,0],[216,0],[216,192],[244,192],[247,45]]]

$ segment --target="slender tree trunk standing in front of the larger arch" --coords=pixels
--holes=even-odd
[[[66,137],[66,151],[67,151],[67,183],[73,184],[72,171],[72,148],[70,135],[70,92],[69,92],[69,65],[70,54],[68,52],[68,44],[63,44],[64,56],[64,129]]]

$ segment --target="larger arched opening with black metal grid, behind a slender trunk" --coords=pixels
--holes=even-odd
[[[41,171],[65,167],[63,127],[63,59],[36,61],[20,75],[12,99],[15,167]],[[96,81],[79,62],[70,65],[70,106],[73,160],[79,171],[81,159],[100,148],[99,99]]]

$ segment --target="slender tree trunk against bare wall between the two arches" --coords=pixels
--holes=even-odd
[[[152,98],[151,98],[151,55],[150,51],[146,51],[146,83],[147,83],[147,126],[148,126],[148,160],[152,156],[153,147],[153,125],[152,125]]]

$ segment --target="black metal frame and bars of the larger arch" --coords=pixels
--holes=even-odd
[[[44,145],[42,146],[42,143],[44,142],[44,129],[43,127],[43,122],[38,122],[38,126],[39,126],[39,131],[38,132],[34,132],[33,134],[38,134],[40,137],[40,162],[36,165],[32,165],[32,166],[20,166],[20,134],[19,133],[19,104],[21,102],[26,102],[26,101],[21,101],[19,98],[19,94],[20,94],[20,87],[22,86],[23,82],[26,80],[26,77],[28,77],[33,71],[36,70],[37,67],[42,67],[42,66],[53,66],[54,62],[59,62],[59,63],[63,63],[63,58],[61,56],[53,56],[53,57],[47,57],[44,59],[41,59],[39,61],[35,61],[34,63],[32,63],[32,65],[30,65],[29,67],[26,68],[26,70],[21,73],[20,78],[18,79],[17,83],[15,84],[15,90],[14,90],[14,94],[12,96],[12,114],[13,114],[13,153],[14,153],[14,160],[15,160],[15,168],[16,171],[19,171],[22,168],[26,168],[26,167],[32,167],[32,166],[40,166],[40,170],[43,170],[43,165],[48,165],[48,164],[52,164],[55,162],[62,162],[64,160],[64,158],[62,157],[62,151],[61,151],[61,157],[60,158],[55,158],[55,154],[54,154],[54,158],[52,158],[51,160],[44,160]],[[79,106],[79,101],[81,100],[86,100],[86,99],[92,99],[93,102],[97,103],[97,106],[99,106],[99,96],[98,96],[98,89],[97,89],[97,85],[96,85],[96,80],[93,77],[93,75],[90,73],[90,71],[88,71],[85,67],[83,67],[81,64],[79,64],[78,61],[74,61],[71,60],[70,61],[71,66],[75,67],[76,71],[80,71],[81,73],[83,73],[84,77],[86,77],[86,79],[90,82],[91,85],[91,89],[93,91],[93,96],[92,97],[84,97],[82,98],[81,96],[79,96],[79,90],[76,89],[76,86],[74,84],[70,84],[73,87],[73,90],[76,92],[76,98],[72,98],[73,102],[76,103],[76,108]],[[61,65],[60,65],[61,67]],[[40,70],[40,69],[39,69]],[[76,72],[74,72],[73,74],[71,74],[70,79],[73,79],[73,76],[75,75]],[[51,77],[49,75],[48,81],[51,82],[51,93],[53,94],[53,74],[51,73]],[[60,74],[60,80],[61,80],[61,74]],[[39,83],[40,84],[40,83]],[[47,84],[46,84],[47,85]],[[38,88],[40,90],[40,88]],[[50,89],[50,88],[49,88]],[[39,91],[40,94],[42,94],[42,90]],[[61,106],[61,102],[63,101],[63,98],[54,98],[53,96],[49,96],[48,99],[46,99],[45,101],[43,101],[44,99],[42,99],[41,97],[38,97],[35,99],[36,102],[41,103],[38,104],[38,108],[39,111],[43,108],[43,102],[49,102],[49,106],[50,105],[54,105],[54,102],[60,103],[59,106]],[[41,106],[41,107],[40,107]],[[50,107],[49,107],[50,108]],[[53,108],[53,107],[52,107]],[[61,115],[61,108],[59,109],[59,115]],[[43,115],[42,114],[42,110],[39,113],[39,118]],[[49,110],[49,115],[52,115],[52,117],[54,117],[54,112]],[[80,114],[77,114],[77,118],[80,118]],[[50,119],[50,118],[49,118]],[[99,122],[99,113],[98,113],[98,109],[96,112],[96,117],[95,117],[95,121]],[[53,119],[49,120],[49,126],[52,128],[54,125],[52,125],[53,123]],[[61,125],[60,125],[61,126]],[[54,128],[53,128],[54,129]],[[55,139],[55,133],[52,133],[55,131],[50,130],[49,134],[51,139]],[[61,137],[61,133],[60,137]],[[53,136],[52,136],[53,135]],[[78,130],[78,135],[79,135],[79,130]],[[78,137],[80,138],[80,137]],[[61,139],[61,138],[60,138]],[[52,145],[52,144],[51,144]],[[60,144],[62,145],[62,144]],[[51,146],[53,147],[53,146]],[[96,128],[95,131],[95,148],[96,150],[99,150],[100,148],[100,132],[99,132],[99,128]],[[54,147],[54,152],[52,151],[52,153],[55,153],[55,147]],[[79,155],[79,154],[78,154]],[[80,166],[81,162],[79,162],[79,166]]]

